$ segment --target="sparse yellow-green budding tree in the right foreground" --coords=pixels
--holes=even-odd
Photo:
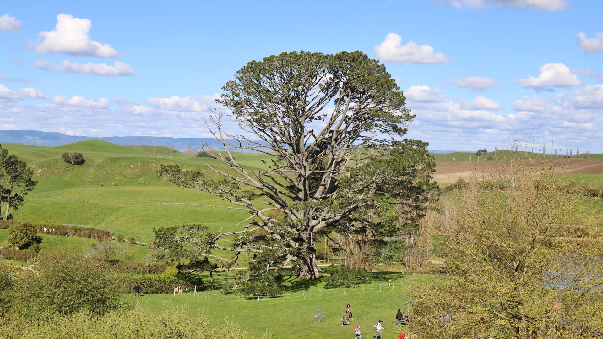
[[[445,274],[406,285],[412,337],[602,337],[603,242],[592,201],[557,163],[499,166],[434,219]]]

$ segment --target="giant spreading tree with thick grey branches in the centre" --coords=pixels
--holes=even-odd
[[[359,51],[283,52],[247,63],[235,77],[218,101],[252,136],[223,131],[224,113],[218,110],[210,116],[207,125],[224,150],[205,146],[229,166],[230,171],[210,167],[224,179],[181,171],[177,165],[162,165],[158,172],[253,215],[243,229],[200,232],[197,237],[206,240],[208,250],[231,251],[235,260],[240,253],[255,253],[267,259],[264,273],[294,263],[300,277],[316,277],[317,232],[371,233],[384,239],[416,227],[415,221],[397,226],[391,209],[394,201],[402,201],[399,197],[412,213],[429,201],[437,191],[429,182],[433,159],[426,143],[394,141],[405,135],[414,116],[384,65]],[[264,160],[267,170],[256,171],[236,162],[232,148],[259,151],[273,160]],[[259,208],[252,202],[257,198],[270,208]],[[271,211],[285,217],[277,220]],[[231,237],[232,244],[218,242],[224,237]]]

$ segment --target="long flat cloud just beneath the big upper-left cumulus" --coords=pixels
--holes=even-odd
[[[33,63],[34,68],[45,69],[47,71],[65,71],[69,73],[80,73],[80,74],[96,74],[96,75],[107,75],[109,77],[115,77],[117,75],[136,75],[136,72],[125,62],[113,62],[113,66],[107,65],[106,63],[77,63],[69,60],[55,65],[48,60],[36,60]]]

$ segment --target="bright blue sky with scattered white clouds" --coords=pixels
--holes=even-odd
[[[433,149],[516,134],[603,152],[601,13],[599,0],[5,2],[0,129],[204,137],[245,63],[361,50]]]

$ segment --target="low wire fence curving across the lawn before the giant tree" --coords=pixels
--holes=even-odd
[[[398,288],[400,288],[400,283],[397,285]],[[174,294],[176,288],[174,288]],[[194,290],[189,290],[188,288],[180,288],[180,293],[185,293],[186,295],[188,295],[189,293],[192,293],[194,297],[203,297],[204,299],[218,299],[219,302],[236,302],[236,303],[240,303],[240,302],[257,302],[259,303],[260,300],[264,300],[264,299],[269,299],[269,300],[285,300],[285,299],[291,299],[291,298],[303,298],[304,300],[306,300],[306,298],[310,298],[310,297],[315,297],[315,296],[328,296],[329,298],[332,295],[337,295],[337,294],[346,294],[346,293],[355,293],[358,291],[365,291],[365,290],[379,290],[379,291],[395,291],[396,290],[396,283],[392,282],[390,283],[385,283],[385,284],[363,284],[363,285],[356,285],[356,286],[350,286],[350,287],[339,287],[339,288],[333,288],[333,289],[327,289],[327,290],[320,290],[320,291],[301,291],[301,292],[296,292],[296,293],[286,293],[286,294],[277,294],[275,296],[229,296],[229,294],[223,294],[223,293],[207,293],[207,291],[204,292],[200,292],[197,291],[197,287],[194,287]]]

